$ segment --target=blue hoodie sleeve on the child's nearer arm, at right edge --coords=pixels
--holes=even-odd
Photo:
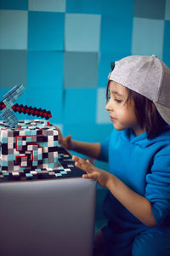
[[[168,148],[170,152],[170,148]],[[170,218],[170,154],[156,155],[146,176],[145,197],[150,201],[156,223]]]

